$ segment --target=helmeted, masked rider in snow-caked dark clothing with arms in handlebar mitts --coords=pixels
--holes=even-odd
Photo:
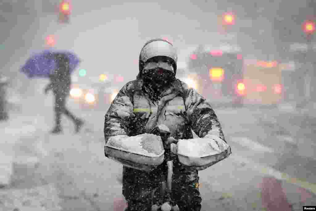
[[[198,171],[231,154],[211,105],[175,78],[176,71],[173,45],[163,39],[148,41],[140,52],[137,79],[125,84],[105,115],[105,155],[123,164],[128,210],[151,210],[159,197],[155,190],[166,180],[167,149],[161,136],[150,134],[157,125],[170,131],[171,197],[180,210],[201,210]]]

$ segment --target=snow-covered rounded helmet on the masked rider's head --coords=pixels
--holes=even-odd
[[[153,39],[146,42],[139,55],[139,74],[143,71],[144,64],[149,59],[157,56],[168,57],[173,60],[174,74],[177,71],[177,52],[173,45],[164,39]]]

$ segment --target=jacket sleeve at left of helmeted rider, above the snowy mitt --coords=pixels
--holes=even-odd
[[[128,136],[128,126],[135,117],[133,114],[131,93],[127,84],[119,91],[105,115],[104,138],[105,144],[111,137],[117,135]]]

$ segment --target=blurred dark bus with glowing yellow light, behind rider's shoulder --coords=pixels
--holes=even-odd
[[[188,62],[189,81],[213,106],[242,106],[243,57],[239,46],[199,46]]]

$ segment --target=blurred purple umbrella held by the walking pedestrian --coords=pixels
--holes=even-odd
[[[81,62],[74,53],[68,51],[45,50],[41,53],[34,54],[29,58],[25,65],[21,67],[20,71],[25,73],[29,78],[47,78],[57,68],[57,62],[54,55],[58,53],[64,53],[68,57],[70,73],[73,72]]]

